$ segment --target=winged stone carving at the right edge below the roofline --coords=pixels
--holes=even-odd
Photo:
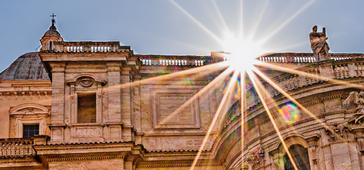
[[[364,118],[364,92],[350,92],[348,98],[342,104],[348,105],[350,103],[354,103],[358,105],[356,108],[356,113],[349,119],[348,122],[354,121],[354,123],[362,124],[362,119]]]

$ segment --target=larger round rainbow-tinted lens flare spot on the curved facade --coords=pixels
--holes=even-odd
[[[291,102],[278,109],[278,112],[285,123],[295,123],[300,120],[300,112],[297,106]]]

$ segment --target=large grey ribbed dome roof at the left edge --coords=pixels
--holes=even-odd
[[[0,80],[49,80],[37,52],[18,57],[0,73]]]

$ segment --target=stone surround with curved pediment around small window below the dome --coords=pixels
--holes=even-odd
[[[33,111],[34,109],[36,111]],[[9,113],[15,119],[16,138],[23,138],[23,125],[39,124],[39,135],[45,135],[47,117],[51,115],[48,108],[35,103],[27,103],[15,106],[9,110]]]

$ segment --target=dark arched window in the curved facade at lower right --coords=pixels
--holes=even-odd
[[[288,150],[299,170],[310,170],[308,151],[306,148],[300,144],[294,144]],[[284,155],[284,170],[294,170],[287,154]]]

